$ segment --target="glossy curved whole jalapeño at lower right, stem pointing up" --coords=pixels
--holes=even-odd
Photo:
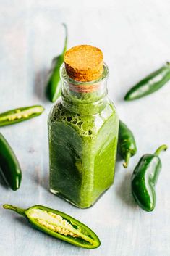
[[[158,154],[166,149],[167,146],[162,145],[154,154],[144,154],[132,175],[132,194],[135,201],[137,205],[148,212],[156,206],[155,186],[162,166]]]

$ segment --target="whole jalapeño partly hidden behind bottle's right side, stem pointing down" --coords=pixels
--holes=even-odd
[[[137,147],[132,131],[121,120],[119,120],[118,151],[124,159],[124,168],[127,168],[130,157],[137,152]]]

